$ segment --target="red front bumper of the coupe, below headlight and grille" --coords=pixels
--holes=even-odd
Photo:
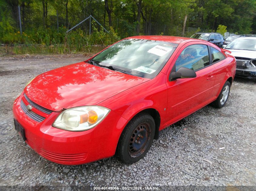
[[[92,129],[71,132],[52,127],[59,112],[52,112],[42,122],[26,115],[20,107],[22,95],[14,102],[14,119],[24,128],[25,142],[42,157],[58,164],[78,165],[115,154],[127,120],[114,111]]]

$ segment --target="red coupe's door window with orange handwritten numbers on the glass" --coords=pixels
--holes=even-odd
[[[199,70],[209,65],[208,47],[204,44],[187,46],[175,62],[176,71],[180,67]]]

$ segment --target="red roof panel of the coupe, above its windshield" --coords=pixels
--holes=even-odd
[[[159,41],[164,41],[164,42],[168,42],[168,43],[176,43],[176,44],[180,44],[184,40],[195,40],[195,39],[187,38],[187,37],[173,37],[173,36],[160,36],[160,35],[134,36],[134,37],[128,37],[127,39],[133,39],[133,38],[145,39],[145,40],[159,40]]]

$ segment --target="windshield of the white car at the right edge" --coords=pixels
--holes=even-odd
[[[256,51],[256,38],[253,37],[239,37],[231,41],[226,49],[238,49],[238,50],[253,50]]]

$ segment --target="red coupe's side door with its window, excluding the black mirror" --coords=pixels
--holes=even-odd
[[[195,78],[167,80],[168,102],[167,121],[165,125],[175,123],[194,111],[207,105],[213,99],[215,68],[209,59],[208,43],[193,42],[185,44],[175,56],[170,72],[180,67],[191,68],[196,72]]]

